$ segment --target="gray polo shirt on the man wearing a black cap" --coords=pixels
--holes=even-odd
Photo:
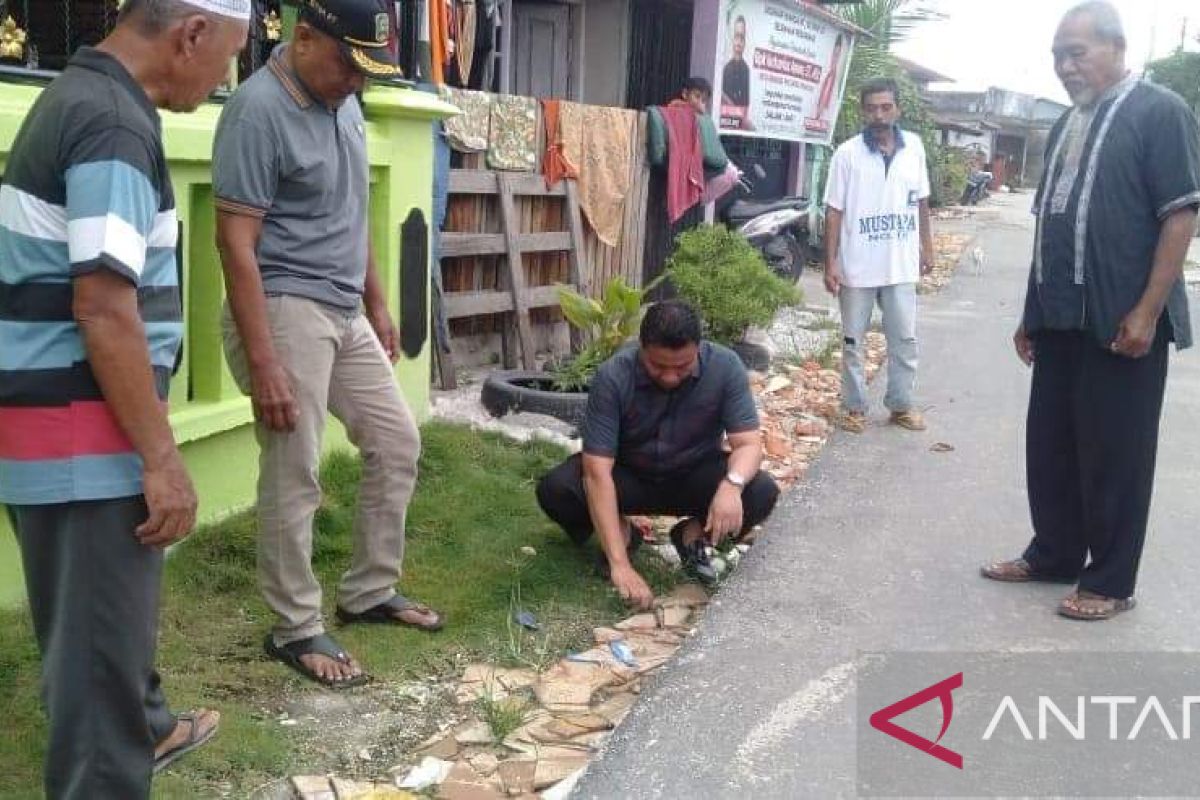
[[[368,167],[362,109],[317,101],[287,46],[238,88],[212,146],[216,207],[263,219],[258,265],[269,295],[354,309],[367,269]]]

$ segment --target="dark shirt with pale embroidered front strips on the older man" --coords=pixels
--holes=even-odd
[[[1163,219],[1189,206],[1200,206],[1200,131],[1177,95],[1128,78],[1067,112],[1033,201],[1026,331],[1086,331],[1108,348],[1146,290]],[[1176,347],[1190,347],[1182,279],[1166,318]]]

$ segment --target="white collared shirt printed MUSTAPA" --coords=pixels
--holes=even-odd
[[[842,284],[866,289],[920,278],[918,205],[929,197],[929,169],[920,137],[901,131],[892,166],[866,146],[863,134],[833,155],[826,205],[842,212],[839,249]]]

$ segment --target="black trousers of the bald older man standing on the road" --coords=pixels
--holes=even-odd
[[[1108,597],[1133,595],[1169,348],[1165,326],[1141,359],[1082,332],[1036,337],[1026,439],[1034,535],[1025,551],[1034,570]]]

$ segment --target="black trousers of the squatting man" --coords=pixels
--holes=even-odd
[[[670,515],[672,517],[708,517],[708,506],[728,471],[728,458],[713,458],[685,473],[646,475],[617,464],[612,480],[617,485],[617,507],[623,515]],[[779,499],[775,479],[764,471],[746,482],[742,491],[743,533],[770,515]],[[577,543],[592,535],[592,515],[583,491],[583,457],[571,456],[547,473],[538,483],[538,504]]]

